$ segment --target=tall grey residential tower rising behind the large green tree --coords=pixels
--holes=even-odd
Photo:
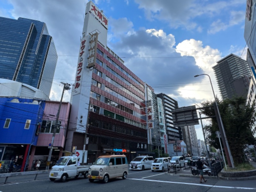
[[[246,98],[251,78],[248,64],[241,57],[229,54],[212,67],[222,99]]]

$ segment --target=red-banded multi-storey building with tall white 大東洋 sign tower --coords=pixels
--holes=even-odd
[[[65,148],[85,148],[88,163],[103,154],[125,154],[128,161],[154,154],[148,148],[147,127],[153,124],[146,121],[145,83],[107,46],[107,33],[108,18],[88,2]]]

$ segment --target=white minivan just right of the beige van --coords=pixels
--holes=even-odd
[[[152,156],[138,156],[135,157],[130,163],[131,170],[144,170],[150,169],[154,158]]]

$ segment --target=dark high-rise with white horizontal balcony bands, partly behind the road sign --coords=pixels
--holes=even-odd
[[[181,127],[174,127],[172,121],[172,109],[178,108],[178,102],[164,93],[157,94],[164,106],[164,118],[168,142],[173,140],[183,140]]]

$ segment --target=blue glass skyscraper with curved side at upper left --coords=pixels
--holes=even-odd
[[[46,24],[0,17],[0,78],[28,84],[50,95],[57,52]]]

